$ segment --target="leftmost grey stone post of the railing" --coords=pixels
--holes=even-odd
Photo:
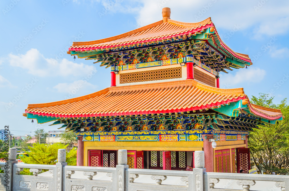
[[[5,167],[4,167],[4,182],[3,185],[5,185],[5,189],[10,191],[12,190],[12,184],[13,184],[13,164],[18,163],[18,161],[16,161],[16,148],[10,148],[8,151],[8,161],[5,163]]]

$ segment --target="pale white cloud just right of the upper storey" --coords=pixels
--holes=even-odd
[[[234,85],[240,83],[259,83],[266,75],[266,71],[260,68],[249,66],[247,69],[241,68],[233,74],[220,75],[220,88],[233,88]]]

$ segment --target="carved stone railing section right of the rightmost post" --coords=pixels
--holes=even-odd
[[[260,190],[260,188],[254,187],[256,182],[260,182],[259,186],[262,186],[262,182],[266,184],[268,184],[268,182],[271,182],[272,188],[274,186],[276,186],[277,188],[280,187],[281,191],[285,191],[285,188],[289,188],[289,177],[286,175],[205,172],[203,173],[203,178],[205,182],[204,190],[231,190],[231,188],[224,188],[224,184],[221,183],[221,180],[230,180],[232,183],[236,183],[236,185],[240,186],[239,188],[234,188],[235,190]]]

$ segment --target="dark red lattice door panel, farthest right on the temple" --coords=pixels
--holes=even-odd
[[[240,170],[243,170],[246,174],[250,169],[250,149],[237,148],[237,173],[240,173]]]

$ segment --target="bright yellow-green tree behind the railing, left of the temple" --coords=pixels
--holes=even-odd
[[[27,164],[55,164],[58,155],[58,149],[66,149],[67,145],[55,143],[53,145],[45,145],[34,143],[32,147],[28,146],[29,151],[25,152],[28,156],[22,156],[21,160]],[[66,162],[68,165],[76,165],[76,149],[66,151]]]

